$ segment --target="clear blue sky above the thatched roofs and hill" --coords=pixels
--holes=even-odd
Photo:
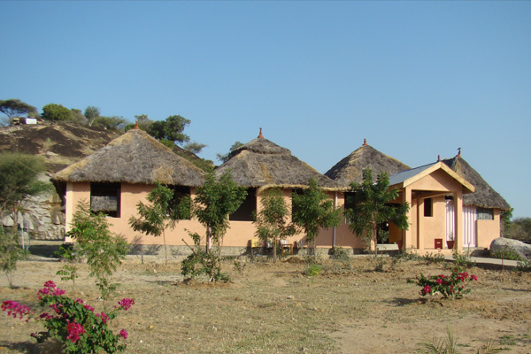
[[[0,2],[0,99],[190,119],[215,160],[267,139],[325,173],[366,138],[458,147],[531,216],[531,2]]]

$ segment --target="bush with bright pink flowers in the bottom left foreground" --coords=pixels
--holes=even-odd
[[[8,316],[27,320],[35,318],[42,321],[47,333],[31,334],[37,342],[43,342],[48,337],[57,338],[64,345],[65,353],[114,353],[126,349],[121,340],[127,339],[127,331],[122,329],[119,335],[112,334],[108,322],[116,318],[119,311],[127,311],[135,304],[135,300],[124,298],[114,306],[112,312],[95,313],[94,307],[83,304],[83,300],[73,300],[65,295],[65,290],[56,288],[53,281],[46,281],[44,288],[37,293],[42,307],[48,306],[52,312],[42,312],[37,317],[31,309],[12,300],[2,303],[2,310]]]

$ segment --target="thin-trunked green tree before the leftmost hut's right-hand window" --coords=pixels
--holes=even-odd
[[[136,204],[138,218],[131,217],[129,225],[135,231],[141,231],[146,235],[158,237],[162,235],[165,251],[165,265],[168,261],[168,252],[165,241],[165,230],[175,228],[179,219],[189,218],[189,198],[183,198],[179,204],[173,204],[173,190],[160,182],[155,183],[155,188],[151,190],[148,201],[150,204],[139,202]]]

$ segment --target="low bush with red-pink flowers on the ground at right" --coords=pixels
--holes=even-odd
[[[449,276],[447,275],[418,275],[415,280],[409,279],[408,282],[416,283],[421,287],[420,295],[441,294],[444,298],[461,298],[470,292],[466,288],[466,282],[477,281],[478,277],[469,275],[461,268],[455,268]]]

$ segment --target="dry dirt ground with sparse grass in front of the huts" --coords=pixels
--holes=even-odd
[[[112,327],[126,328],[128,353],[412,353],[420,343],[444,338],[450,328],[461,353],[493,341],[496,348],[531,353],[531,273],[486,270],[461,300],[425,299],[406,280],[416,274],[449,274],[449,264],[386,261],[375,272],[369,258],[321,260],[319,276],[304,275],[302,258],[276,264],[242,258],[223,263],[232,281],[183,281],[180,262],[167,266],[129,257],[115,273],[119,289],[107,306],[134,297]],[[94,280],[81,265],[75,288],[56,275],[52,258],[21,261],[10,289],[0,279],[0,299],[38,310],[36,291],[55,281],[67,296],[82,297],[103,311]],[[40,312],[38,312],[40,313]],[[0,316],[0,353],[54,352],[37,346],[35,322]]]

